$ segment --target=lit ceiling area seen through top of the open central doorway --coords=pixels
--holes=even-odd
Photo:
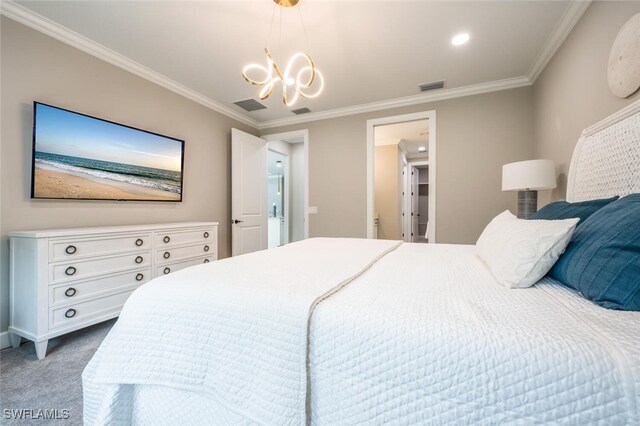
[[[375,126],[374,143],[376,146],[397,144],[408,159],[426,159],[429,156],[429,120]],[[421,146],[427,151],[420,152]]]

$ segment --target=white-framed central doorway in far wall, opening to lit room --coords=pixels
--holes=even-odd
[[[367,238],[436,241],[435,161],[435,111],[367,121]]]

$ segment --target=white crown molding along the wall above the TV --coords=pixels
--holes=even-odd
[[[33,28],[43,34],[55,38],[63,43],[73,46],[82,50],[92,56],[102,59],[112,65],[122,68],[125,71],[129,71],[132,74],[142,77],[152,83],[155,83],[165,89],[171,90],[180,96],[184,96],[194,102],[204,105],[220,114],[226,115],[229,118],[238,120],[249,126],[258,127],[258,121],[246,117],[245,115],[234,111],[233,109],[222,105],[219,102],[190,89],[150,68],[145,67],[138,62],[135,62],[124,55],[121,55],[93,40],[90,40],[75,31],[72,31],[50,19],[47,19],[29,9],[26,9],[19,4],[14,3],[11,0],[0,1],[0,14],[5,15],[8,18],[13,19],[21,24]]]

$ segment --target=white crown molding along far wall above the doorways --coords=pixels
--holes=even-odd
[[[442,89],[434,93],[421,93],[419,95],[405,96],[386,101],[371,102],[368,104],[354,105],[344,108],[336,108],[328,111],[320,111],[305,114],[302,117],[287,117],[276,120],[263,121],[258,124],[258,129],[270,129],[273,127],[288,126],[291,124],[307,123],[310,121],[326,120],[329,118],[344,117],[347,115],[362,114],[373,111],[381,111],[391,108],[400,108],[428,102],[442,101],[446,99],[461,98],[464,96],[479,95],[482,93],[497,92],[499,90],[515,89],[530,86],[529,79],[525,76],[508,78],[505,80],[490,81],[488,83],[473,84],[470,86]]]

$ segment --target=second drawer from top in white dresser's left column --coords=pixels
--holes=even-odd
[[[150,264],[150,251],[52,264],[49,267],[49,285],[76,281],[81,278],[89,278],[110,272],[141,268]]]

